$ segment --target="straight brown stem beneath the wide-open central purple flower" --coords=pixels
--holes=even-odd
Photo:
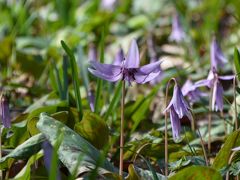
[[[120,161],[119,175],[123,175],[123,146],[124,146],[124,100],[125,100],[125,81],[122,81],[122,100],[121,100],[121,133],[120,133]]]

